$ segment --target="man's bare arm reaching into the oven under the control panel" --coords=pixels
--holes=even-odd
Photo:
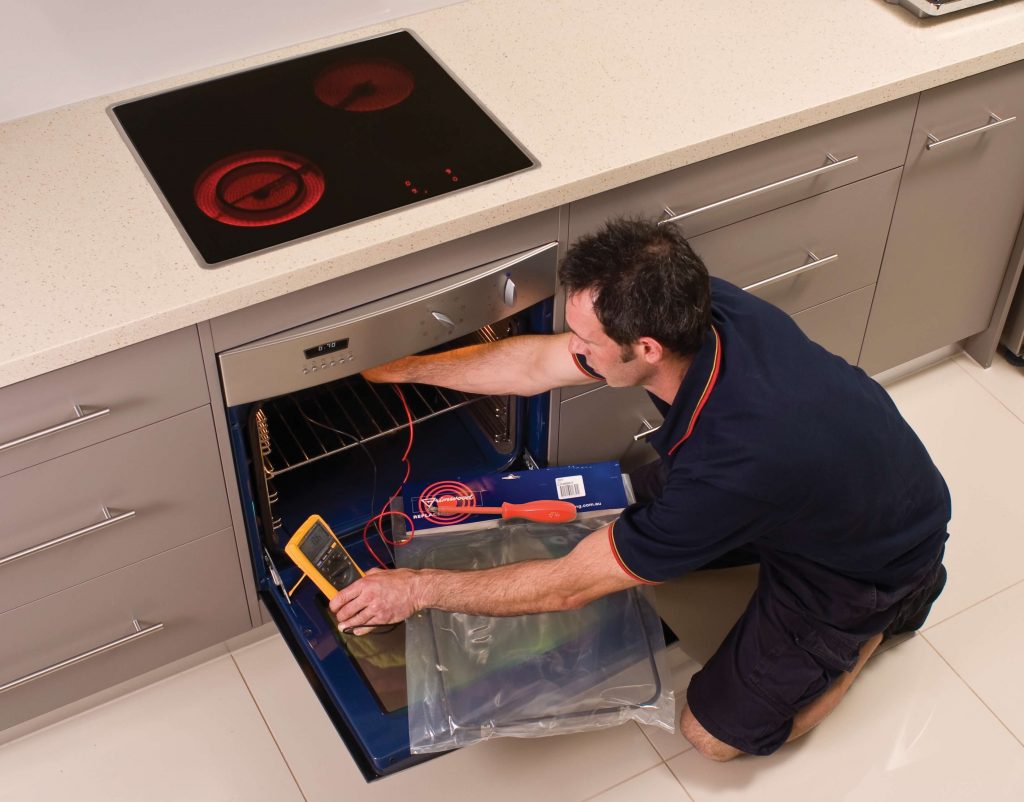
[[[403,356],[362,375],[374,382],[417,382],[485,395],[535,395],[595,379],[577,366],[570,334],[524,334],[481,345]]]

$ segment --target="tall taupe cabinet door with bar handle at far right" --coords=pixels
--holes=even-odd
[[[861,367],[985,329],[1022,213],[1024,62],[922,94]]]

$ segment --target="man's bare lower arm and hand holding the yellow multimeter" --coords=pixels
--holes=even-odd
[[[330,606],[340,627],[358,631],[427,608],[477,616],[574,609],[637,584],[615,560],[604,527],[558,559],[484,571],[372,571],[340,591]]]

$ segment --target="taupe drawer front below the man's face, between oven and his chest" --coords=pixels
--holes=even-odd
[[[636,435],[660,425],[660,414],[640,387],[598,387],[559,405],[556,463],[618,460],[623,470],[633,470],[657,457]]]

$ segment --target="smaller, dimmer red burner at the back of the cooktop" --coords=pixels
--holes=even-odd
[[[316,76],[313,91],[332,109],[379,112],[397,105],[413,93],[413,74],[389,58],[340,61]]]

